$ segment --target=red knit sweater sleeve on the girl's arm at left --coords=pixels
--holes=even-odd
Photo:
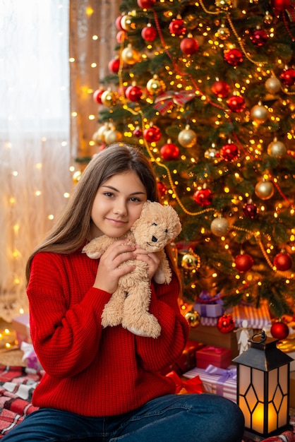
[[[80,278],[89,276],[74,261],[71,255],[65,261],[56,253],[37,253],[28,285],[32,342],[44,370],[56,377],[74,376],[90,365],[100,345],[102,309],[111,297],[92,287],[94,277],[83,281],[89,287],[83,292]]]

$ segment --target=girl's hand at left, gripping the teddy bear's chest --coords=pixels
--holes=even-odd
[[[127,242],[128,239],[119,239],[102,254],[93,287],[114,293],[118,287],[119,277],[131,273],[136,268],[135,265],[119,268],[121,263],[136,258],[135,246],[130,246],[126,244]]]

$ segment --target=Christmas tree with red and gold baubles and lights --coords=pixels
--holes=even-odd
[[[295,2],[123,0],[95,152],[138,145],[178,211],[183,305],[294,314]],[[94,153],[95,153],[94,152]]]

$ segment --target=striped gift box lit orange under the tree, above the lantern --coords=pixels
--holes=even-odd
[[[247,327],[262,329],[270,325],[270,311],[267,303],[262,301],[260,307],[256,309],[253,305],[239,304],[234,306],[231,316],[237,328],[242,327],[243,320],[246,319]]]

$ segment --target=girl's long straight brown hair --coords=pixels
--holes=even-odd
[[[58,222],[44,241],[32,252],[26,266],[27,281],[30,277],[32,258],[36,253],[40,251],[71,253],[85,243],[90,234],[91,210],[97,189],[114,174],[128,170],[133,170],[138,174],[147,191],[148,200],[159,201],[157,180],[148,158],[138,148],[133,148],[131,145],[123,143],[109,145],[92,158],[76,184]],[[168,249],[167,252],[169,261],[174,265]]]

